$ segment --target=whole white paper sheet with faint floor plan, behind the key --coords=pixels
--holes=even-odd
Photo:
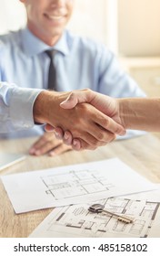
[[[155,189],[117,158],[3,176],[16,213]]]

